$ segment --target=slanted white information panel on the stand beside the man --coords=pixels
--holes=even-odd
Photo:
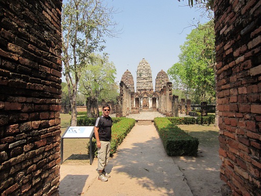
[[[94,127],[69,127],[62,138],[91,138]]]

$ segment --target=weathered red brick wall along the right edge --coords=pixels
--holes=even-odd
[[[215,1],[221,179],[261,195],[261,1]]]

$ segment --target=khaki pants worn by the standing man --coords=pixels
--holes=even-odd
[[[103,170],[109,162],[111,152],[111,141],[100,141],[98,149],[98,170]]]

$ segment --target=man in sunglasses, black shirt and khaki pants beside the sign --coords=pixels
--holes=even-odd
[[[111,177],[105,171],[111,151],[112,118],[109,116],[110,110],[111,107],[109,105],[102,106],[102,115],[97,118],[94,127],[98,149],[98,180],[101,182],[106,182]]]

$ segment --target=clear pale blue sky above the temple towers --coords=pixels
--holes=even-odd
[[[193,29],[189,27],[200,18],[200,11],[185,6],[188,0],[113,0],[114,9],[121,11],[114,15],[122,28],[119,38],[106,38],[109,61],[117,69],[116,82],[123,73],[131,71],[136,87],[136,71],[142,58],[148,61],[152,70],[153,88],[155,78],[161,69],[165,72],[176,62],[180,45],[186,41]],[[202,19],[201,19],[202,20]],[[206,21],[206,20],[205,20]]]

